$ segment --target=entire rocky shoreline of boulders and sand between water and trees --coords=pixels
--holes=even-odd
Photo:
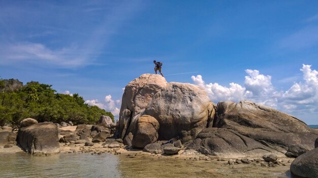
[[[214,104],[199,86],[143,74],[125,87],[117,123],[108,116],[96,125],[77,126],[27,118],[18,131],[0,128],[0,153],[111,153],[225,166],[292,165],[294,175],[315,177],[317,138],[316,129],[289,114],[249,101]]]

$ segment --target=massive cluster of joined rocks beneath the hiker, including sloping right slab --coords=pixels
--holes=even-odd
[[[186,149],[206,155],[241,157],[273,153],[297,157],[313,149],[318,137],[317,131],[289,114],[249,101],[215,105],[203,88],[167,83],[154,74],[143,74],[125,87],[115,136],[123,139],[125,145],[131,146],[133,141],[133,145],[139,142],[135,147],[145,147],[140,135],[148,127],[138,123],[144,115],[153,117],[160,125],[158,141],[181,140]],[[155,139],[149,143],[153,142]],[[150,152],[160,150],[155,144],[145,148]]]

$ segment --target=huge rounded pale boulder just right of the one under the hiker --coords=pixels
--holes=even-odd
[[[179,137],[186,142],[193,139],[188,137],[192,129],[199,132],[213,122],[214,107],[203,88],[170,82],[152,98],[142,114],[159,122],[160,140]]]

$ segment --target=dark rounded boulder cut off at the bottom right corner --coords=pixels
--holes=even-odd
[[[291,172],[300,177],[318,177],[318,148],[297,157],[291,164]]]

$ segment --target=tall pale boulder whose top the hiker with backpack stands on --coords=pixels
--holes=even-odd
[[[122,95],[115,137],[124,139],[132,118],[146,108],[152,97],[167,85],[164,77],[155,74],[142,74],[126,85]]]

